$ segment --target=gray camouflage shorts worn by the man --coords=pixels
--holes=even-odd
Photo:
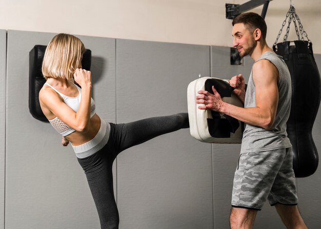
[[[239,156],[232,206],[261,210],[267,199],[271,205],[297,204],[292,148]]]

